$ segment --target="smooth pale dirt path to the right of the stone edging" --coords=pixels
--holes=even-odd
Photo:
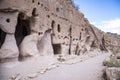
[[[101,54],[84,62],[61,65],[34,80],[101,80],[103,60],[110,54]]]

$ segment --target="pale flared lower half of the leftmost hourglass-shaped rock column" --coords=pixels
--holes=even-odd
[[[7,34],[0,49],[0,62],[18,60],[19,51],[14,34]]]

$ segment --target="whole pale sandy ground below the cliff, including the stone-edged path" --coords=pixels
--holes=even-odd
[[[109,55],[92,52],[83,56],[67,56],[67,61],[62,63],[57,60],[58,56],[46,56],[0,64],[0,80],[101,80],[105,68],[102,62]]]

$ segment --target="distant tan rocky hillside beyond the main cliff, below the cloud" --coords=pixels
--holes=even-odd
[[[116,33],[110,33],[110,32],[105,33],[93,25],[92,25],[92,27],[93,27],[96,35],[98,36],[99,41],[102,41],[101,39],[103,39],[104,43],[102,43],[102,44],[105,46],[106,50],[113,51],[113,50],[120,49],[120,35],[118,35]]]

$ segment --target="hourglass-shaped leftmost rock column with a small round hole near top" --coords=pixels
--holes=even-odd
[[[0,49],[0,62],[18,60],[19,51],[15,40],[15,29],[18,12],[0,12],[0,28],[6,33],[5,41]]]

